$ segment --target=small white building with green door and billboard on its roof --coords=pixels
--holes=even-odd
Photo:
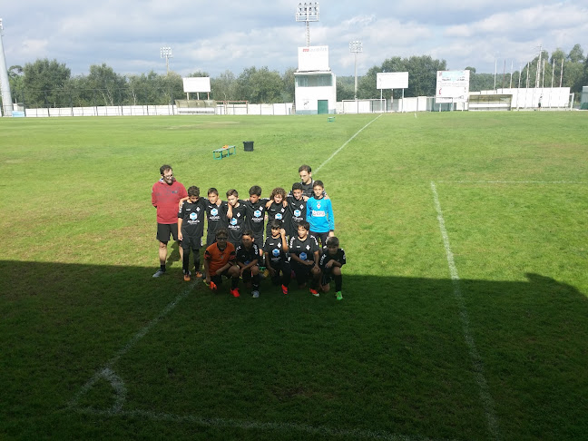
[[[294,78],[296,113],[335,113],[337,77],[328,67],[328,46],[299,47],[299,68]]]

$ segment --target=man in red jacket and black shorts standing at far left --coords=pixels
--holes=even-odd
[[[159,258],[160,269],[153,277],[165,274],[165,260],[167,260],[167,242],[170,235],[178,241],[178,210],[180,201],[188,197],[186,188],[173,177],[171,165],[164,164],[160,167],[162,179],[155,182],[152,188],[152,205],[157,209],[157,240],[160,242]],[[181,246],[180,260],[183,259]]]

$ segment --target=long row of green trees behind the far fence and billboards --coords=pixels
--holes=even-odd
[[[584,56],[580,44],[565,54],[556,49],[551,55],[547,51],[539,54],[525,64],[523,69],[511,72],[510,66],[504,64],[502,72],[476,73],[470,70],[470,91],[493,90],[503,87],[535,87],[537,69],[540,71],[539,87],[570,87],[579,95],[582,86],[588,85],[588,57]],[[562,63],[564,69],[562,74]],[[508,69],[507,69],[508,67]],[[386,59],[380,65],[374,65],[368,72],[358,78],[358,98],[375,99],[380,97],[376,89],[377,73],[408,72],[406,97],[434,96],[436,72],[447,70],[445,60],[436,60],[428,55]],[[290,67],[284,73],[270,70],[267,66],[246,68],[238,76],[229,70],[211,77],[211,96],[217,101],[249,101],[250,103],[291,103],[294,101],[294,73]],[[195,72],[188,76],[210,76],[205,72]],[[26,107],[78,107],[95,105],[136,105],[136,104],[171,104],[174,100],[185,99],[181,75],[170,72],[122,75],[115,73],[107,64],[93,64],[89,73],[72,75],[71,70],[57,60],[37,59],[25,66],[14,65],[8,70],[8,77],[13,94],[13,101]],[[527,78],[529,79],[527,81]],[[355,78],[338,77],[338,100],[354,98]],[[401,96],[402,91],[383,91],[385,98],[394,94]]]

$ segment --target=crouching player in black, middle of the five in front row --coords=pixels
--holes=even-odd
[[[286,240],[286,230],[281,228],[279,220],[270,222],[271,235],[266,239],[263,251],[266,258],[266,267],[270,271],[271,282],[279,285],[281,282],[282,292],[288,294],[288,286],[291,277],[289,266],[288,241]],[[279,273],[281,272],[281,278]]]

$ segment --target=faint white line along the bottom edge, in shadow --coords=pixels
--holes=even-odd
[[[123,410],[113,412],[112,410],[98,410],[91,407],[81,407],[75,409],[82,414],[89,414],[101,417],[133,417],[143,418],[153,421],[171,421],[173,423],[191,423],[198,426],[206,427],[229,427],[238,429],[257,429],[273,430],[281,433],[299,432],[301,436],[329,436],[329,437],[347,437],[351,439],[381,439],[389,441],[448,441],[446,439],[434,439],[426,436],[406,436],[390,434],[383,431],[363,430],[363,429],[338,429],[329,426],[310,426],[300,423],[276,423],[276,422],[259,422],[232,418],[204,418],[191,415],[174,415],[159,412],[148,412],[144,410]]]

